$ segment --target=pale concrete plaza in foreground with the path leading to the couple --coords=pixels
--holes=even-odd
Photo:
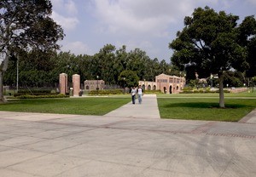
[[[163,120],[148,103],[103,117],[0,111],[0,176],[256,176],[255,111],[244,123]]]

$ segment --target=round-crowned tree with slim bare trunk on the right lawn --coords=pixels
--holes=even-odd
[[[172,63],[193,65],[199,76],[218,74],[220,107],[224,107],[224,71],[248,66],[247,50],[237,39],[238,19],[208,7],[195,9],[192,17],[184,18],[183,31],[178,31],[177,38],[169,44],[174,49]]]

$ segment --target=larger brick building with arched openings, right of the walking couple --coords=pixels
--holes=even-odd
[[[139,81],[139,85],[145,90],[160,90],[166,94],[177,94],[181,92],[186,83],[185,77],[169,76],[160,74],[155,77],[155,82]]]

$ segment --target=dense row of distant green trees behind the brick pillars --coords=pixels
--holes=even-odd
[[[17,59],[11,57],[9,69],[5,72],[3,83],[15,87]],[[123,75],[123,71],[128,73]],[[138,79],[154,81],[155,76],[166,73],[179,76],[177,68],[165,60],[151,60],[141,49],[126,51],[125,45],[116,49],[112,44],[106,44],[94,55],[71,54],[69,52],[49,51],[41,53],[32,50],[20,55],[19,85],[20,87],[55,87],[59,83],[59,74],[67,73],[68,80],[73,74],[79,74],[81,82],[95,80],[96,76],[107,85],[130,87],[137,85]],[[129,75],[132,75],[131,79]],[[125,82],[123,80],[125,77]],[[127,78],[127,79],[126,79]],[[132,80],[132,82],[130,81]]]

